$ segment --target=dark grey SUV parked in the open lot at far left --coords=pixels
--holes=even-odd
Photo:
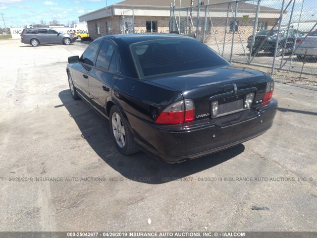
[[[59,32],[52,28],[26,28],[21,33],[21,42],[39,46],[45,44],[69,45],[76,40],[75,36]]]

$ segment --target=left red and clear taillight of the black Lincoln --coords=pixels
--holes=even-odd
[[[195,118],[194,103],[191,100],[180,101],[165,108],[155,120],[157,124],[181,124]]]

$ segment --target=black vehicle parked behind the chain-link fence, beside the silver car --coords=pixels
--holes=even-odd
[[[256,34],[254,45],[252,48],[252,55],[254,55],[256,52],[259,52],[259,51],[271,52],[272,54],[274,54],[275,45],[277,41],[277,33],[278,33],[278,29],[273,29],[273,30],[264,30]],[[287,36],[287,29],[281,29],[279,34],[279,39],[278,39],[276,56],[282,55],[283,48],[285,46],[286,36],[287,36],[287,43],[286,43],[285,52],[288,53],[293,51],[296,37],[301,37],[303,35],[304,34],[300,31],[290,29]],[[252,45],[252,36],[249,36],[248,46],[247,46],[249,50],[251,50],[251,45]]]

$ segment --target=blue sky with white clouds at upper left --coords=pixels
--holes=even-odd
[[[56,19],[60,24],[77,21],[78,16],[118,3],[122,0],[0,0],[0,13],[3,14],[6,27],[24,27],[40,24],[41,20],[49,24]],[[0,27],[4,27],[0,14]]]

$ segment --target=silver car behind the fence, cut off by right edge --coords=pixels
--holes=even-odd
[[[317,57],[317,30],[296,40],[294,55],[299,59]],[[297,48],[297,49],[296,49]]]

